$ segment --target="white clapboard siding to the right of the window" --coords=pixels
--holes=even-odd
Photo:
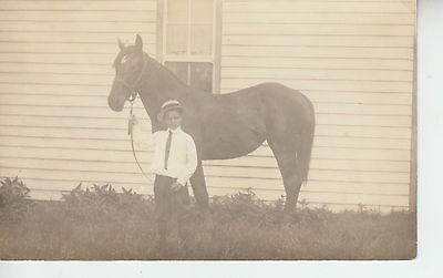
[[[279,82],[315,105],[312,161],[300,197],[332,207],[406,207],[414,2],[231,0],[223,2],[222,21],[222,92]],[[267,146],[255,153],[272,158]],[[277,171],[274,161],[261,163]],[[357,189],[363,187],[368,192]],[[276,198],[281,192],[267,194]]]

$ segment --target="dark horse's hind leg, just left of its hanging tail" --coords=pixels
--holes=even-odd
[[[297,199],[302,183],[299,174],[300,171],[297,159],[297,151],[295,146],[288,146],[288,142],[285,140],[268,140],[268,144],[276,156],[277,164],[284,179],[286,191],[285,209],[290,212],[297,205]]]

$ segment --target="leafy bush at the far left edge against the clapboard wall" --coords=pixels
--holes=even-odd
[[[19,220],[29,206],[29,188],[19,179],[6,177],[0,182],[0,219]]]

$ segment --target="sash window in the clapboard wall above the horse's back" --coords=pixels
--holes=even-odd
[[[183,82],[216,90],[217,0],[165,0],[163,11],[163,61]]]

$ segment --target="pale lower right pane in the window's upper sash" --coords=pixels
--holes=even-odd
[[[207,55],[213,53],[213,27],[198,24],[190,27],[190,54]]]

